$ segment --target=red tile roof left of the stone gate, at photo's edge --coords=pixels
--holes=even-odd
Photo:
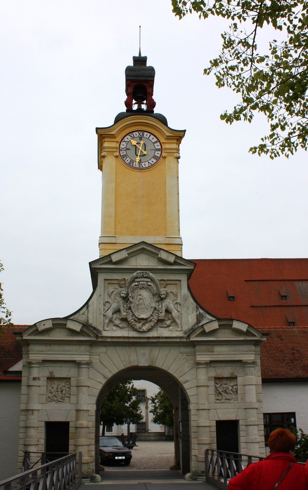
[[[22,344],[16,340],[14,333],[24,332],[29,325],[3,325],[0,335],[0,381],[20,381],[21,376],[7,376],[6,371],[23,358]]]

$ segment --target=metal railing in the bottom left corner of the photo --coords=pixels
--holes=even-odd
[[[81,484],[81,452],[35,466],[0,482],[0,490],[77,490]]]

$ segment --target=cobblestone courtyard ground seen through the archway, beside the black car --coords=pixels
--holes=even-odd
[[[169,469],[174,464],[173,441],[137,441],[132,449],[132,461],[129,466],[105,466],[109,470]]]

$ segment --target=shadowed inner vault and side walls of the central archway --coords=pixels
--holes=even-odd
[[[118,383],[127,379],[138,380],[142,379],[150,381],[156,384],[160,388],[163,388],[168,394],[173,410],[174,410],[174,466],[177,469],[182,469],[183,473],[190,471],[190,438],[189,430],[185,431],[186,437],[179,438],[179,420],[189,421],[189,397],[183,390],[183,387],[177,379],[170,375],[167,371],[161,368],[152,366],[146,367],[131,367],[118,371],[112,378],[110,378],[102,387],[98,394],[96,401],[96,415],[95,415],[95,469],[98,471],[99,466],[99,419],[100,419],[100,407],[106,394]],[[185,425],[185,427],[187,424]],[[183,424],[184,427],[184,424]]]

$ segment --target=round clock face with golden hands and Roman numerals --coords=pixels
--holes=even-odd
[[[132,131],[120,141],[119,154],[122,160],[134,169],[148,169],[162,155],[159,139],[148,131]]]

